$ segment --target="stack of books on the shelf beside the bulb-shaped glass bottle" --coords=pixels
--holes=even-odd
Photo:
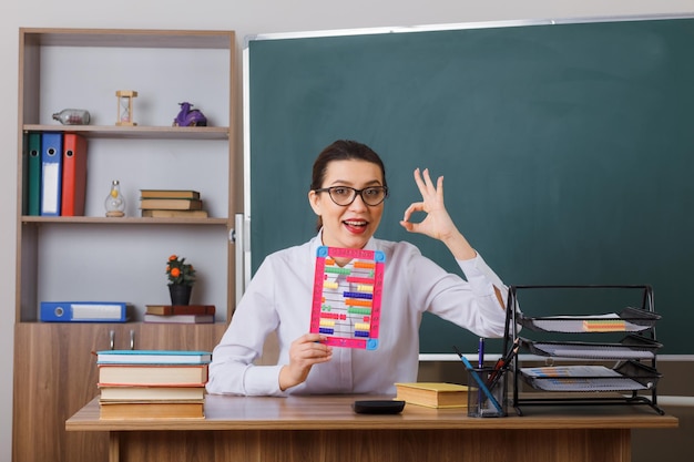
[[[193,189],[140,189],[140,209],[150,218],[207,218],[200,192]]]

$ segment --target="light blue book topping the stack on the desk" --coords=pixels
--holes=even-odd
[[[205,365],[210,351],[188,350],[103,350],[96,351],[98,365]]]

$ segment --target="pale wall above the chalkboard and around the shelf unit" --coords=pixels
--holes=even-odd
[[[7,3],[11,2],[8,7]],[[6,0],[0,14],[0,462],[11,459],[18,29],[232,29],[247,34],[500,20],[694,13],[694,0]]]

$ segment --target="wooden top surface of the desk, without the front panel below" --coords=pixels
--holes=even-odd
[[[100,420],[99,397],[65,422],[68,431],[132,430],[430,430],[430,429],[639,429],[676,428],[678,420],[644,405],[542,407],[507,418],[468,418],[466,408],[407,404],[400,414],[357,414],[357,399],[382,397],[228,397],[208,394],[205,419]]]

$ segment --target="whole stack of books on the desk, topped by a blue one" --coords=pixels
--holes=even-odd
[[[203,419],[212,353],[184,350],[96,352],[101,419]]]

